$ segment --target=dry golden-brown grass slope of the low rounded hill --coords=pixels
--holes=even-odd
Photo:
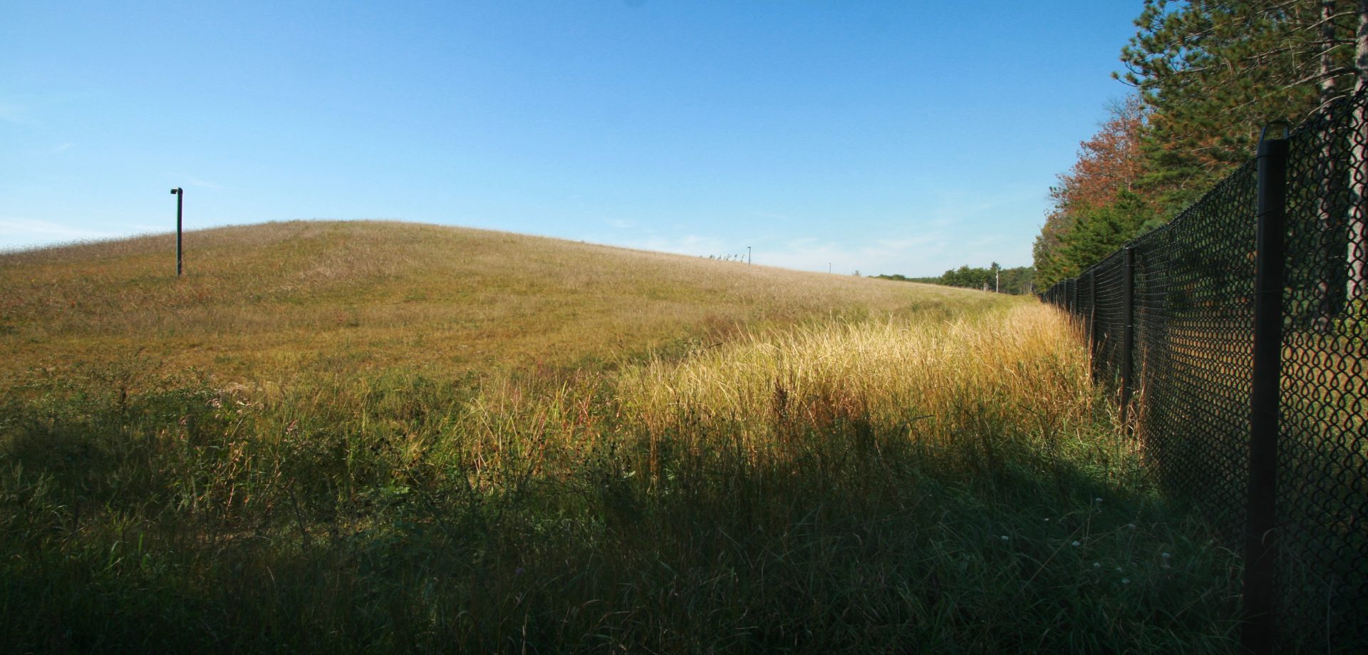
[[[224,380],[300,369],[449,375],[642,357],[740,325],[953,313],[978,291],[483,230],[291,222],[0,254],[0,375],[142,350]]]

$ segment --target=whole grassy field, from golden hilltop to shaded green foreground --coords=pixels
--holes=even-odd
[[[194,237],[179,283],[152,238],[0,257],[3,651],[1234,650],[1237,558],[1051,308]]]

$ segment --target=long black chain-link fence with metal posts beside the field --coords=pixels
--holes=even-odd
[[[1245,554],[1245,645],[1368,652],[1368,94],[1282,137],[1041,297]]]

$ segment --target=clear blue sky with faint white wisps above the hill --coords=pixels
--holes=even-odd
[[[0,3],[0,249],[398,219],[1030,264],[1140,0]],[[189,246],[187,246],[189,248]]]

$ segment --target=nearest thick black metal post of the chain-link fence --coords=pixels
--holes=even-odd
[[[1286,126],[1285,126],[1286,129]],[[1267,135],[1268,129],[1264,129]],[[1285,135],[1286,137],[1286,135]],[[1287,139],[1259,141],[1254,257],[1254,343],[1249,398],[1249,507],[1245,529],[1245,625],[1241,645],[1272,652],[1278,410],[1287,205]]]

